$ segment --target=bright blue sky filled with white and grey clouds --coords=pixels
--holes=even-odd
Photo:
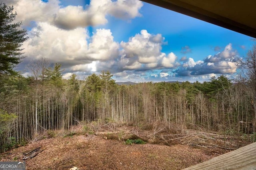
[[[139,0],[2,0],[28,30],[26,59],[60,63],[63,77],[110,70],[116,81],[235,78],[251,37]]]

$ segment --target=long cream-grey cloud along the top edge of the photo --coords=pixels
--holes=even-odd
[[[22,21],[25,27],[31,27],[34,22],[48,22],[61,29],[76,29],[78,27],[104,25],[108,22],[108,14],[121,19],[140,17],[143,3],[138,0],[91,0],[85,6],[62,7],[59,0],[4,0],[8,5],[14,5],[17,12],[16,21]]]

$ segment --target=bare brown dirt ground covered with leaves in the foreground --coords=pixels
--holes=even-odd
[[[104,136],[53,137],[0,154],[0,161],[22,161],[23,152],[41,147],[26,160],[26,170],[177,170],[223,154],[222,149],[191,148],[187,145],[133,144]]]

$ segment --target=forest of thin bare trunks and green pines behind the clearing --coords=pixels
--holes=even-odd
[[[187,129],[256,138],[256,46],[237,59],[236,80],[221,75],[207,82],[141,82],[118,85],[109,71],[80,80],[62,78],[61,64],[31,61],[24,77],[14,71],[27,34],[12,23],[13,7],[0,4],[0,151],[48,130],[79,123],[118,122],[134,126],[162,122]]]

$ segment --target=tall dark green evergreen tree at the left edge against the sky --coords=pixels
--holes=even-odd
[[[20,47],[28,39],[26,30],[20,29],[22,23],[13,23],[17,14],[12,11],[13,7],[0,3],[0,77],[17,74],[13,68],[24,58]]]

